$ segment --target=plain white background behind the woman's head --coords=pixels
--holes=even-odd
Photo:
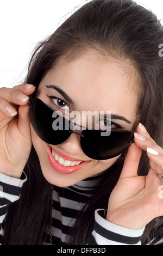
[[[136,1],[136,0],[135,0]],[[1,0],[0,87],[23,82],[37,42],[42,41],[84,0]],[[151,9],[163,25],[163,0],[136,1]],[[68,14],[68,15],[70,15]],[[162,42],[163,44],[163,42]]]

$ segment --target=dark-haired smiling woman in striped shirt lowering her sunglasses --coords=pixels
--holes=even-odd
[[[37,47],[26,83],[1,88],[3,245],[161,243],[162,41],[135,2],[93,0]],[[48,111],[111,111],[111,137],[53,136]]]

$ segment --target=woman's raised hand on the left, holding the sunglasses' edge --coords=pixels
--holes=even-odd
[[[32,84],[0,88],[0,173],[14,178],[20,178],[32,147],[28,95],[34,90]]]

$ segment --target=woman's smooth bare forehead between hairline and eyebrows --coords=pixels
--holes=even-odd
[[[131,69],[127,63],[92,52],[72,62],[60,62],[43,77],[39,89],[54,84],[71,97],[77,111],[111,111],[133,122],[137,81]]]

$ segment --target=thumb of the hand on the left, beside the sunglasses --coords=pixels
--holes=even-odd
[[[28,104],[18,108],[18,130],[24,137],[28,139],[31,137]]]

